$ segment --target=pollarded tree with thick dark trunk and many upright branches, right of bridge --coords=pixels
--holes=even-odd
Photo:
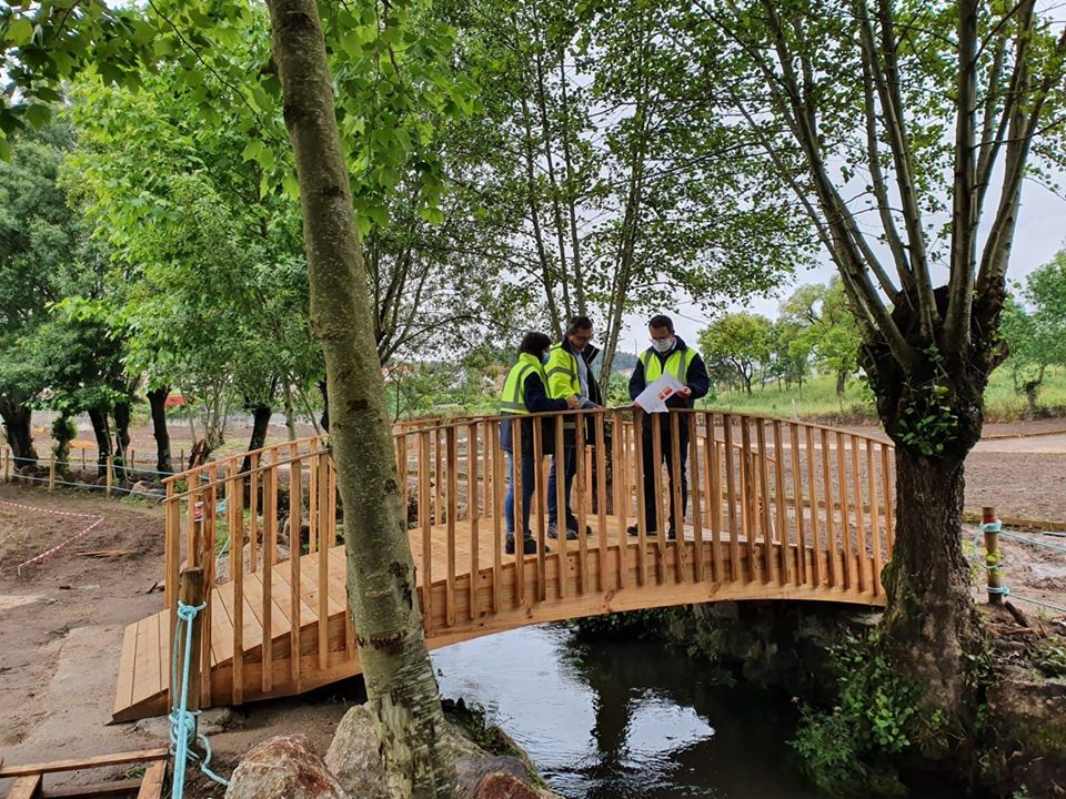
[[[1023,181],[1062,152],[1066,36],[1033,0],[730,0],[681,14],[672,41],[696,62],[691,90],[758,138],[841,275],[896,444],[885,629],[957,718],[979,646],[963,464],[1003,358]]]

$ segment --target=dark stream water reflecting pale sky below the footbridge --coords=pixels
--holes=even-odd
[[[486,708],[573,799],[815,799],[782,719],[748,690],[654,643],[573,648],[532,627],[433,655],[441,691]]]

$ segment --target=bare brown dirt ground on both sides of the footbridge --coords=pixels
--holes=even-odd
[[[967,466],[967,507],[994,504],[1003,516],[1066,522],[1066,419],[988,425],[986,432],[994,437],[982,441]],[[1042,435],[1018,438],[1019,432]],[[284,428],[272,428],[271,437],[283,438]],[[150,449],[148,431],[137,431],[135,439],[141,452]],[[247,431],[231,432],[230,439],[247,439]],[[18,564],[100,517],[82,538],[17,574]],[[975,534],[971,528],[971,540]],[[1066,547],[1066,537],[1035,537]],[[165,727],[158,721],[108,724],[123,628],[162,607],[162,539],[158,505],[0,485],[0,758],[39,762],[163,745]],[[86,554],[104,550],[103,556]],[[1003,550],[1014,595],[1066,607],[1066,553],[1010,539],[1003,540]],[[975,569],[975,575],[983,581],[983,572]],[[975,596],[980,595],[975,588]],[[1037,615],[1037,606],[1016,604]],[[356,682],[243,708],[235,728],[212,736],[220,771],[229,773],[240,754],[281,732],[309,735],[324,751],[346,707],[362,700],[360,691]],[[78,781],[122,771],[88,772]],[[63,783],[63,778],[49,782]],[[198,785],[198,797],[222,793]],[[0,780],[0,796],[8,787]]]

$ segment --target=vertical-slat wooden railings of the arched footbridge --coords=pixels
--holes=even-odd
[[[546,439],[541,425],[534,424],[537,477],[531,526],[537,550],[522,555],[520,543],[516,558],[503,550],[507,466],[500,449],[501,417],[423,421],[396,428],[396,459],[408,487],[419,598],[429,634],[443,635],[456,625],[516,607],[563,600],[571,593],[603,594],[626,587],[733,583],[778,586],[783,596],[797,595],[794,589],[803,588],[821,591],[817,598],[832,598],[825,595],[828,591],[877,601],[882,595],[881,569],[893,545],[891,444],[819,425],[716,412],[672,412],[665,431],[658,417],[628,408],[554,417],[557,422],[564,415],[577,422],[574,435],[581,456],[572,507],[579,536],[570,542],[565,535],[546,537],[551,457],[544,453],[550,444],[562,451],[564,431],[556,423],[552,438]],[[521,425],[515,425],[515,432],[517,451]],[[675,518],[685,522],[675,542],[653,536],[647,528],[643,462],[650,449],[652,463],[662,463],[668,445],[676,472],[684,433],[688,436],[687,503],[680,483],[670,486],[667,496],[665,469],[654,472],[658,526],[665,528],[670,505]],[[233,595],[244,597],[255,609],[254,625],[264,631],[278,626],[275,605],[286,608],[291,640],[284,656],[306,653],[311,636],[316,667],[325,670],[338,647],[354,651],[350,623],[339,635],[334,621],[331,640],[326,590],[319,590],[313,600],[316,631],[302,633],[300,624],[301,601],[309,601],[301,595],[301,578],[308,574],[309,580],[328,586],[328,553],[339,543],[336,479],[326,443],[312,437],[257,451],[249,456],[250,469],[241,472],[244,457],[215,461],[167,481],[165,601],[171,645],[179,573],[187,564],[204,570],[209,603],[204,629],[212,629],[213,605],[220,601],[213,589],[233,583]],[[557,485],[562,507],[563,481]],[[516,485],[520,537],[521,496]],[[592,538],[586,525],[595,530]],[[637,535],[627,534],[630,525],[636,526]],[[293,550],[304,557],[290,557]],[[514,576],[516,563],[523,565],[519,577]],[[272,596],[275,569],[286,570],[285,597]],[[573,579],[565,578],[567,573]],[[250,575],[257,576],[254,586],[245,585]],[[233,640],[232,649],[222,648],[233,654],[243,653],[242,637],[252,621],[245,618],[245,601],[235,600],[225,608]],[[271,634],[262,636],[262,663],[272,664]],[[218,646],[203,647],[204,672],[211,667],[212,650],[220,657]],[[291,678],[299,685],[305,658],[289,659]],[[240,701],[243,660],[242,655],[233,658],[233,701]],[[275,670],[264,666],[257,671],[262,691],[269,692]],[[210,694],[211,680],[202,685]],[[205,696],[204,706],[209,704]]]

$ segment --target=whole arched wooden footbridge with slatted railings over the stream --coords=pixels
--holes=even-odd
[[[577,425],[583,457],[573,489],[579,538],[545,537],[550,457],[541,457],[531,520],[537,553],[517,556],[503,547],[500,418],[396,427],[431,648],[542,621],[710,600],[883,604],[879,575],[893,544],[889,444],[781,419],[672,412],[674,453],[682,428],[688,432],[690,496],[682,513],[680,485],[667,496],[665,469],[655,475],[658,517],[673,503],[685,518],[668,540],[650,535],[637,513],[644,449],[661,463],[667,433],[630,409],[576,415],[586,422]],[[540,455],[545,442],[534,429]],[[167,711],[183,564],[201,566],[207,581],[202,707],[300,694],[360,672],[325,442],[250,453],[242,472],[244,457],[167,483],[164,605],[125,629],[115,720]]]

